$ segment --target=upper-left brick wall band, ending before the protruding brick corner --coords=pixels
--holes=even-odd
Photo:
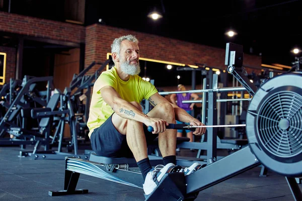
[[[0,31],[80,43],[85,41],[85,27],[69,23],[0,12]]]

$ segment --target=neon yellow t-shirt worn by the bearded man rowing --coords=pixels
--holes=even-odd
[[[93,86],[87,121],[89,137],[94,129],[99,128],[114,113],[112,108],[105,103],[100,92],[101,87],[108,85],[112,86],[121,98],[128,102],[140,103],[143,99],[148,99],[158,92],[153,84],[143,80],[138,75],[131,75],[129,80],[123,81],[118,76],[115,67],[102,72]]]

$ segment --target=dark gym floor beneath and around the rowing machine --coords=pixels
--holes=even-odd
[[[88,194],[51,197],[49,190],[63,189],[64,160],[33,160],[18,157],[19,151],[19,147],[0,147],[0,200],[144,200],[142,189],[86,175],[80,176],[77,188],[88,189]],[[181,150],[182,155],[189,152]],[[294,200],[284,177],[270,171],[259,177],[259,173],[260,167],[253,168],[200,191],[196,200]]]

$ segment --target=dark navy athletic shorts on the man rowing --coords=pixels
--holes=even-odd
[[[144,124],[143,130],[147,144],[158,137],[158,134],[150,133]],[[119,133],[113,126],[112,115],[92,132],[90,140],[92,150],[99,156],[133,157],[127,144],[126,135]]]

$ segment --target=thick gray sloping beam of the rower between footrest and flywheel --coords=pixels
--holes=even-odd
[[[205,166],[200,171],[187,175],[185,177],[187,193],[206,189],[258,165],[260,165],[260,162],[251,152],[250,148],[245,147]]]

